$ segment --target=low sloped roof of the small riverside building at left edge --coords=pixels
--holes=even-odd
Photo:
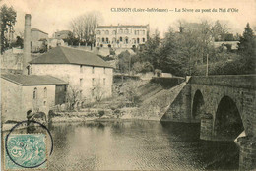
[[[2,74],[1,78],[18,85],[68,85],[52,76]]]

